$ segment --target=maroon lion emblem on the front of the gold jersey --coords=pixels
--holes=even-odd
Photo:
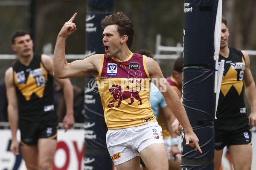
[[[140,86],[137,86],[137,87],[140,87]],[[134,87],[134,88],[137,88],[137,87]],[[112,85],[112,87],[109,89],[109,92],[111,92],[111,95],[113,96],[114,99],[111,100],[109,103],[118,101],[118,105],[116,106],[116,108],[119,108],[123,100],[131,99],[131,102],[128,103],[128,105],[132,105],[134,103],[134,98],[135,98],[138,101],[140,101],[138,105],[142,105],[142,101],[139,96],[141,87],[139,91],[132,90],[133,88],[130,88],[128,85],[126,86],[126,88],[128,88],[129,91],[125,91],[120,85]],[[114,107],[114,105],[109,104],[108,107],[112,108]]]

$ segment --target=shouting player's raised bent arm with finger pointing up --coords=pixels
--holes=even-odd
[[[76,25],[73,23],[77,13],[67,21],[58,34],[53,54],[53,74],[55,77],[64,79],[82,77],[93,73],[97,75],[101,63],[101,54],[95,54],[83,60],[76,60],[68,63],[65,56],[66,39],[74,31]],[[103,45],[103,43],[102,43]]]

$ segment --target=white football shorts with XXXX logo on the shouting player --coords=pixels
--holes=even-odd
[[[108,152],[115,165],[140,156],[140,151],[151,144],[164,143],[162,127],[158,125],[158,122],[108,130],[106,142]]]

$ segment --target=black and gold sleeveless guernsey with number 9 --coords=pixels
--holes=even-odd
[[[233,125],[244,122],[247,111],[244,103],[244,70],[246,67],[241,51],[229,47],[228,58],[219,56],[219,62],[224,59],[224,72],[215,122]]]

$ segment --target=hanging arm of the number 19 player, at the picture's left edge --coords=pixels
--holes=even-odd
[[[12,132],[12,144],[11,151],[15,155],[20,154],[19,143],[17,142],[17,129],[18,129],[18,102],[16,88],[13,82],[13,69],[10,67],[5,73],[5,83],[6,83],[6,95],[8,100],[8,119],[10,123],[10,128]]]

